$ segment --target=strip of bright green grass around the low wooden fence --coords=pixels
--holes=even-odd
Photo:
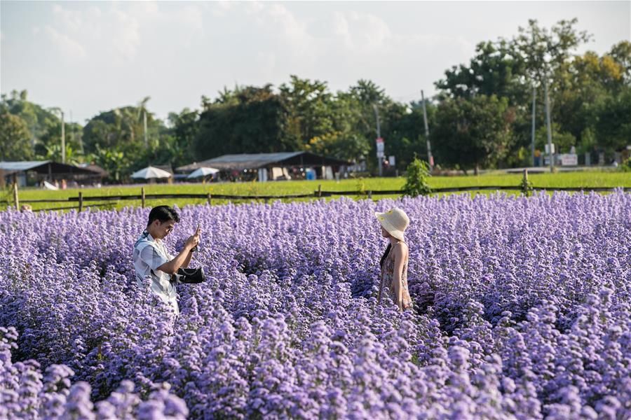
[[[559,172],[556,174],[530,174],[530,181],[534,187],[627,187],[631,188],[631,174],[628,172]],[[483,174],[479,176],[435,176],[430,178],[432,188],[468,187],[468,186],[515,186],[515,191],[506,193],[519,193],[519,184],[522,180],[521,174]],[[77,197],[79,191],[83,192],[83,197],[97,195],[140,195],[140,188],[144,186],[146,194],[225,194],[225,195],[290,195],[290,194],[313,194],[322,186],[323,191],[376,191],[376,190],[400,190],[405,184],[405,178],[365,178],[365,179],[344,179],[336,181],[276,181],[267,183],[243,182],[243,183],[177,183],[177,184],[144,184],[131,186],[104,186],[102,188],[81,188],[59,191],[39,190],[35,188],[25,188],[20,190],[20,201],[22,200],[61,200],[68,197]],[[471,192],[475,194],[475,192]],[[489,194],[489,190],[481,191]],[[336,196],[337,197],[337,196]],[[365,195],[355,195],[355,198],[365,197]],[[386,197],[373,195],[374,200]],[[387,197],[395,197],[388,195]],[[6,201],[13,202],[13,195],[10,189],[2,192],[0,200],[5,202],[0,204],[0,209],[6,209]],[[290,199],[291,200],[291,199]],[[304,199],[309,200],[309,199]],[[288,200],[284,200],[288,201]],[[157,204],[177,204],[184,207],[186,204],[202,204],[206,200],[201,199],[161,199],[147,200],[147,206]],[[227,200],[213,200],[213,204],[224,204]],[[93,202],[85,202],[91,204]],[[76,207],[77,202],[53,202],[53,203],[29,203],[34,210],[50,209],[53,207]],[[128,206],[140,206],[140,200],[119,200],[107,202],[100,208],[121,209]]]

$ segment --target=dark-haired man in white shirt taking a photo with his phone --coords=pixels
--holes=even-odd
[[[169,235],[177,222],[179,222],[179,216],[174,209],[168,206],[154,207],[149,212],[147,229],[134,244],[134,267],[138,287],[146,287],[145,281],[149,280],[151,291],[156,293],[163,302],[170,304],[175,314],[179,314],[179,308],[171,276],[180,267],[189,266],[194,248],[199,244],[200,235],[198,227],[195,234],[186,239],[182,251],[173,258],[167,252],[162,240]]]

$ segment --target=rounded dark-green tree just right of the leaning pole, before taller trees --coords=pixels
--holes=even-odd
[[[515,114],[508,99],[478,95],[472,99],[445,99],[436,111],[430,136],[437,160],[468,169],[492,166],[506,156],[513,141]]]

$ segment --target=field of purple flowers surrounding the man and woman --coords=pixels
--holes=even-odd
[[[0,214],[0,419],[631,418],[631,194],[186,207],[177,318],[135,286],[147,214]]]

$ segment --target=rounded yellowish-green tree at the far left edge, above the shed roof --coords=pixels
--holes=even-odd
[[[0,160],[29,160],[33,156],[31,133],[22,118],[0,113]]]

